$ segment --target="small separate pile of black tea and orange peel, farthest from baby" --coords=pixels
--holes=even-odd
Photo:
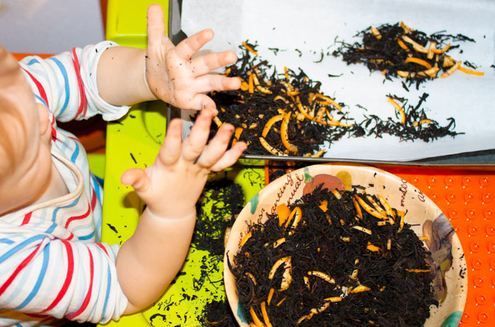
[[[400,22],[366,28],[356,36],[361,36],[362,42],[342,42],[333,52],[334,57],[342,56],[347,64],[365,64],[370,71],[381,71],[389,80],[402,77],[409,85],[416,83],[419,88],[424,81],[438,78],[439,73],[441,78],[450,76],[456,70],[484,74],[474,71],[476,66],[469,61],[464,64],[472,69],[461,66],[462,61],[448,55],[460,47],[452,42],[474,42],[465,35],[449,35],[443,31],[427,35]],[[404,85],[404,88],[407,89],[407,86]]]

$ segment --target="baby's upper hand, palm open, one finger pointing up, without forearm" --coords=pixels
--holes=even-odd
[[[237,61],[234,52],[209,53],[192,59],[213,38],[213,31],[202,30],[175,47],[165,35],[161,6],[149,6],[147,17],[146,80],[156,97],[180,109],[199,110],[216,107],[205,93],[240,87],[238,78],[210,73],[234,64]]]

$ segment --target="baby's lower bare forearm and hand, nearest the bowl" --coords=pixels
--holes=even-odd
[[[189,249],[195,203],[209,172],[233,165],[246,148],[238,142],[226,151],[231,124],[223,124],[206,144],[214,114],[214,109],[202,110],[184,142],[180,119],[170,121],[155,163],[122,175],[122,184],[132,185],[147,205],[136,232],[117,254],[119,283],[129,299],[126,313],[148,306],[168,287]]]

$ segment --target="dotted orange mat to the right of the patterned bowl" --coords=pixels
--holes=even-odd
[[[436,203],[458,234],[467,263],[467,302],[459,327],[495,326],[495,172],[380,167]]]

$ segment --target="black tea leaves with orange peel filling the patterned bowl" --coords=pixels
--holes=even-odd
[[[228,262],[255,326],[424,326],[429,251],[381,196],[310,194],[257,225]]]

